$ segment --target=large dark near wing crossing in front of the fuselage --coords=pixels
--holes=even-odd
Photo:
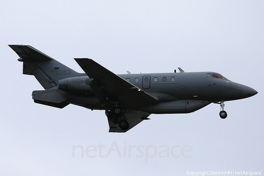
[[[119,103],[122,107],[139,108],[155,104],[156,99],[107,70],[92,59],[75,58],[84,72],[92,78],[89,84],[95,96],[104,107]]]

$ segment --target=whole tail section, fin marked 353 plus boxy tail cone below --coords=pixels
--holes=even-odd
[[[45,90],[33,91],[32,98],[40,103],[57,108],[67,106],[67,97],[58,92],[59,80],[69,77],[86,76],[56,61],[29,45],[9,45],[23,62],[23,74],[34,75]]]

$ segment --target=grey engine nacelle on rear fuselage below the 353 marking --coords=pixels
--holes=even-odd
[[[91,92],[92,89],[89,84],[92,80],[88,76],[65,78],[59,80],[59,89],[71,92]]]

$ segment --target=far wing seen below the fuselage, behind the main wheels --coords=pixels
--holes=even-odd
[[[109,132],[119,132],[119,133],[127,132],[128,130],[138,125],[143,120],[149,119],[148,116],[150,115],[150,113],[144,113],[141,111],[126,111],[123,115],[125,116],[124,118],[129,123],[129,128],[127,130],[121,130],[121,128],[117,123],[117,119],[112,117],[111,115],[107,115],[107,119],[109,123]]]

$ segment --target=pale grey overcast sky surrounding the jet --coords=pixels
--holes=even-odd
[[[1,1],[0,174],[263,175],[263,9],[264,1]],[[72,58],[92,58],[116,74],[215,71],[258,94],[225,102],[224,120],[220,106],[210,104],[190,114],[153,114],[126,133],[108,133],[103,111],[34,103],[32,91],[43,88],[21,74],[7,44],[31,45],[78,72]],[[100,157],[112,144],[122,157],[117,151]],[[82,158],[80,148],[72,157],[77,145],[96,146],[89,152],[96,157]],[[164,145],[180,146],[173,154],[180,157],[155,156]],[[190,158],[181,154],[185,145]],[[133,148],[128,157],[129,146],[143,155]]]

